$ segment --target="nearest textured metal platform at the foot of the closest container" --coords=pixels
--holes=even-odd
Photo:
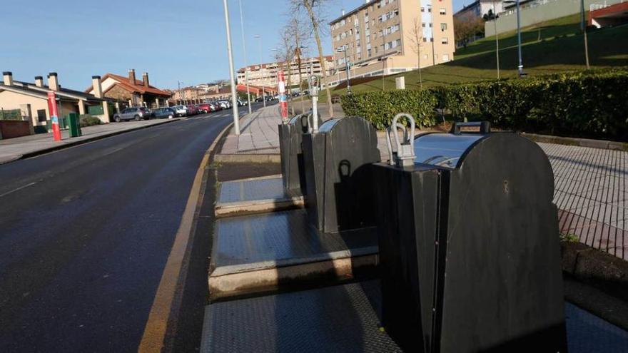
[[[379,281],[208,305],[201,352],[401,352]],[[628,332],[565,303],[570,353],[628,352]]]

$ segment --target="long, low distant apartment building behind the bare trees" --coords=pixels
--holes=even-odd
[[[325,70],[328,75],[333,72],[334,61],[333,56],[325,56]],[[238,70],[238,83],[245,84],[245,70],[246,68],[240,68]],[[260,63],[248,66],[248,84],[250,86],[263,86],[263,87],[277,87],[277,73],[279,70],[283,70],[285,75],[285,81],[288,82],[288,63]],[[320,66],[320,60],[318,56],[315,58],[301,58],[300,71],[297,58],[290,62],[290,86],[298,86],[299,74],[303,81],[308,79],[308,75],[313,73],[314,75],[323,76],[323,71]]]

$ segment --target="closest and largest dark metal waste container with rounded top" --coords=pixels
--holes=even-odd
[[[486,124],[414,152],[373,168],[386,331],[408,352],[566,352],[547,155]]]

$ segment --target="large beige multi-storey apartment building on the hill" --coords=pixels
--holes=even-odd
[[[330,22],[336,70],[330,86],[346,75],[390,75],[453,60],[452,0],[365,0]],[[420,60],[419,60],[420,59]]]

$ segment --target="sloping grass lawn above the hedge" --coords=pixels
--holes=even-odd
[[[524,71],[529,76],[577,71],[586,68],[584,39],[579,33],[577,16],[567,16],[553,24],[539,24],[527,29],[522,45]],[[541,29],[541,40],[538,40]],[[577,34],[574,34],[577,33]],[[504,36],[503,39],[501,37]],[[514,43],[513,43],[514,41]],[[459,55],[460,53],[460,55]],[[592,68],[628,66],[628,26],[589,31],[589,63]],[[495,37],[476,41],[466,49],[458,49],[455,60],[422,69],[423,87],[450,83],[492,80],[497,78]],[[500,34],[500,73],[502,78],[517,77],[516,32]],[[419,88],[418,71],[408,71],[372,81],[351,85],[354,93],[395,89],[395,78],[405,76],[406,89]],[[332,88],[332,95],[346,94],[345,85]],[[325,101],[325,90],[320,101]]]

